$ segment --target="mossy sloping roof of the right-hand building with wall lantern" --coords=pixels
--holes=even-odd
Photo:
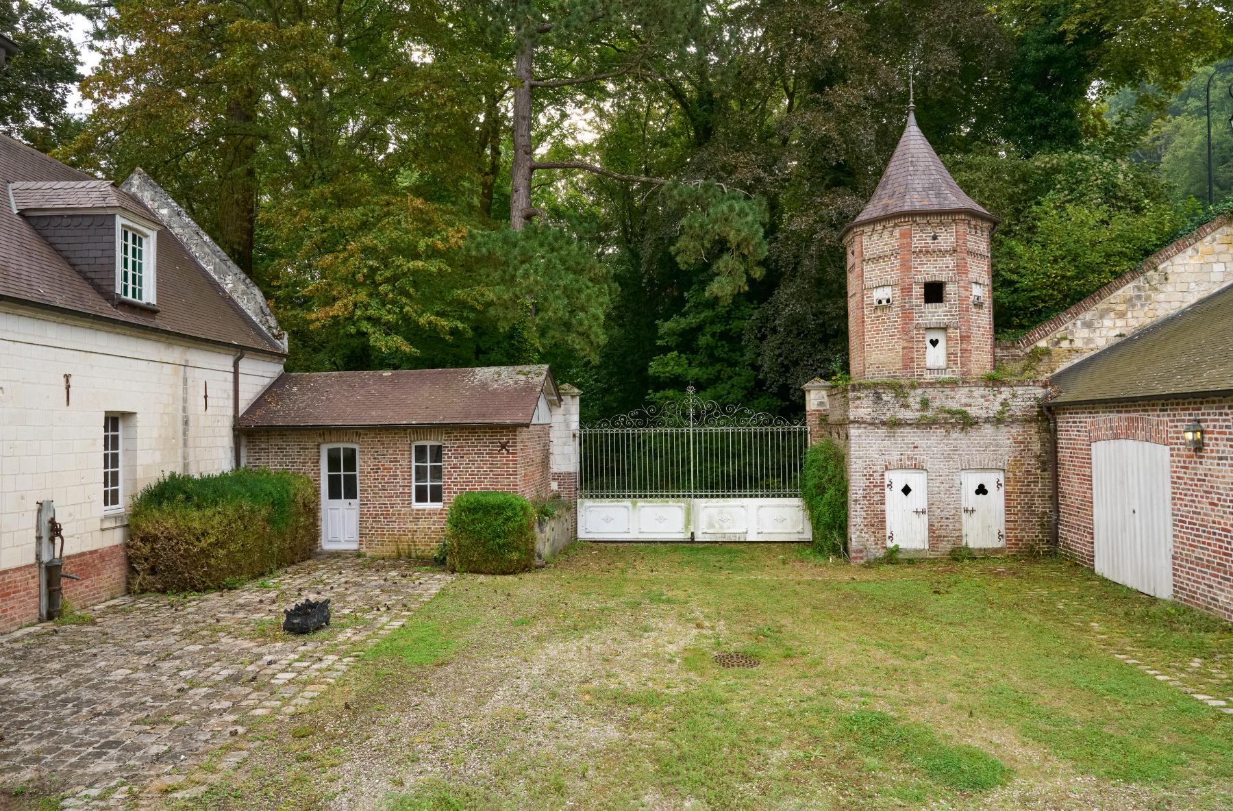
[[[1053,375],[1051,403],[1233,393],[1233,285]]]

